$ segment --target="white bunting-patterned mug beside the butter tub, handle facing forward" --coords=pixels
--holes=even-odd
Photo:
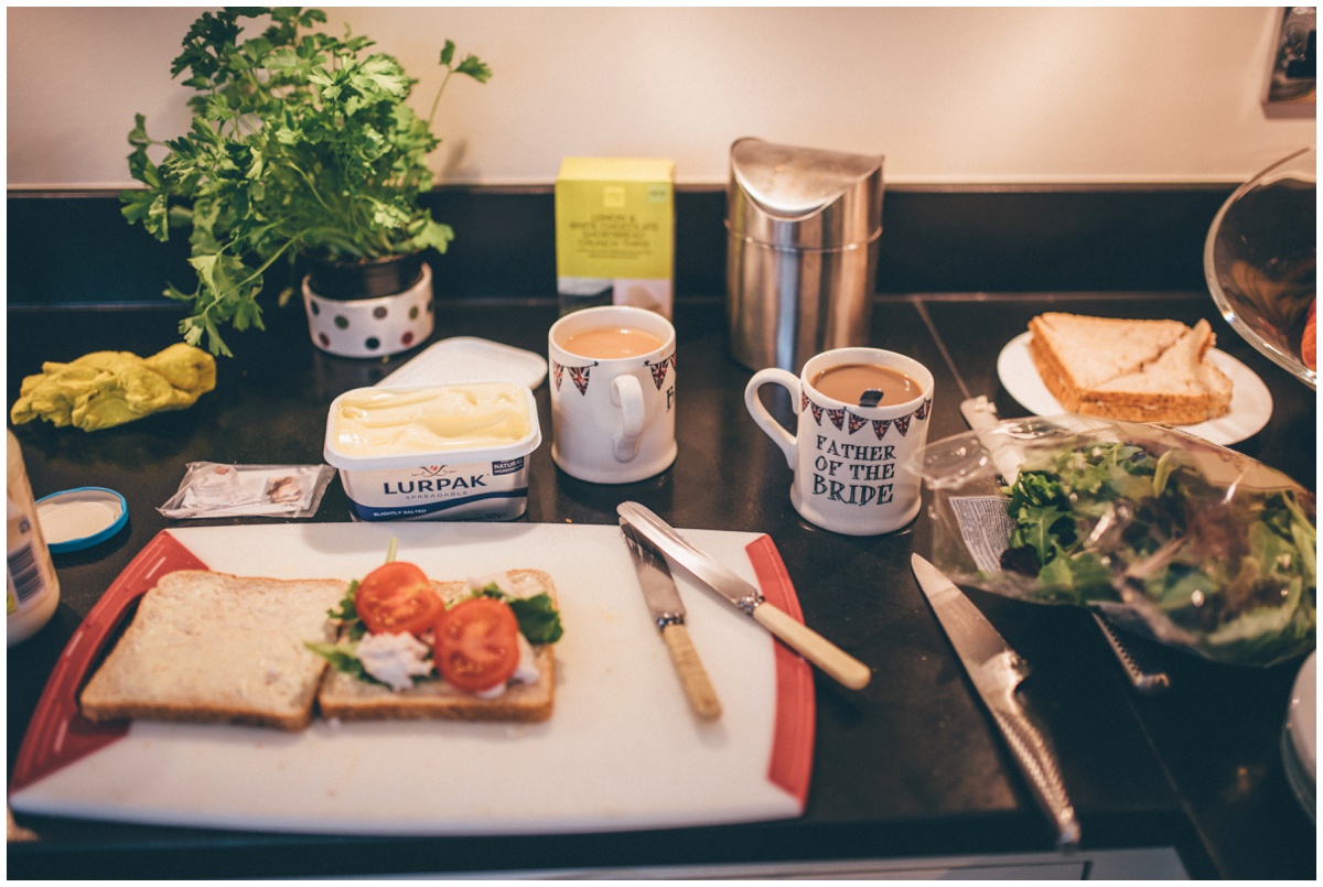
[[[627,329],[660,345],[628,357],[578,354],[565,342],[591,330]],[[623,305],[565,315],[548,334],[552,459],[572,477],[628,484],[675,461],[675,328],[652,311]]]

